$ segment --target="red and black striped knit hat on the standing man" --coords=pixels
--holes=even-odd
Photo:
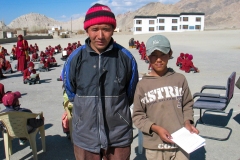
[[[116,28],[115,15],[108,6],[96,3],[88,9],[85,16],[84,29],[86,30],[88,27],[96,24],[111,24],[114,29]]]

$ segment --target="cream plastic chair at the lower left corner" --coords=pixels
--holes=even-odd
[[[44,125],[36,128],[34,132],[28,133],[27,120],[29,118],[36,118],[42,116],[41,113],[28,113],[28,112],[5,112],[0,113],[0,120],[6,127],[6,132],[3,131],[3,139],[5,146],[6,159],[10,159],[12,155],[12,143],[11,140],[14,138],[27,138],[32,148],[33,159],[37,160],[37,147],[36,147],[36,134],[39,131],[42,141],[43,152],[46,152],[45,146],[45,130]]]

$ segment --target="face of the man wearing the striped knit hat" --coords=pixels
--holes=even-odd
[[[99,24],[90,26],[87,29],[88,36],[91,40],[91,47],[97,53],[102,53],[113,35],[114,29],[110,24]]]

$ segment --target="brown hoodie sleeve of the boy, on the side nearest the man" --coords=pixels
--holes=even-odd
[[[141,99],[144,98],[144,93],[141,91],[141,87],[138,84],[135,95],[134,95],[134,107],[133,107],[133,123],[134,125],[140,129],[142,132],[151,135],[151,126],[154,122],[151,122],[147,117],[146,113],[146,105]]]

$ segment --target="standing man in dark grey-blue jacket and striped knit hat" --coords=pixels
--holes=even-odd
[[[63,69],[66,93],[73,101],[73,143],[77,160],[130,158],[133,103],[138,82],[132,54],[114,42],[116,19],[108,6],[95,4],[86,13],[85,45]]]

